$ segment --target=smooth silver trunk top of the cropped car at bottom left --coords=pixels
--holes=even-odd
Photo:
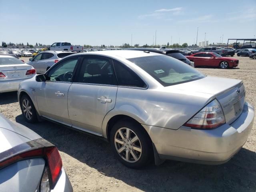
[[[11,122],[0,114],[0,153],[38,138],[41,138],[41,136],[34,131],[19,123]]]

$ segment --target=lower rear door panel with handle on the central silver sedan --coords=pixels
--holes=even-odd
[[[117,89],[117,86],[73,83],[68,92],[72,125],[102,133],[102,121],[115,106]]]

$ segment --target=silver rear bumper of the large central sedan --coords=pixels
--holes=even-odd
[[[142,126],[148,132],[160,159],[222,164],[242,148],[253,122],[254,107],[246,102],[242,114],[234,122],[212,130]]]

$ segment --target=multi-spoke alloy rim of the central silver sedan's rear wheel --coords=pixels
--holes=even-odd
[[[142,146],[138,136],[129,128],[120,128],[114,137],[116,151],[126,162],[137,162],[142,154]]]

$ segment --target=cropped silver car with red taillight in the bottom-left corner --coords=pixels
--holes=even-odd
[[[72,192],[58,149],[0,114],[0,191]]]

